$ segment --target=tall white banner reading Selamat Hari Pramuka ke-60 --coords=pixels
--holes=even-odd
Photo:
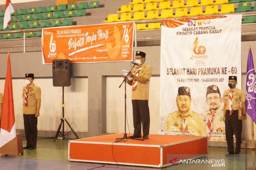
[[[241,89],[241,21],[240,14],[162,21],[160,134],[226,141],[222,97],[228,76]]]

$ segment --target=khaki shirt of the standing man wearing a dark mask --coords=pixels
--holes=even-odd
[[[227,104],[226,110],[229,110],[229,90],[224,91],[223,102]],[[240,89],[235,88],[233,92],[233,110],[238,110],[241,107],[241,102],[245,102],[244,92]]]

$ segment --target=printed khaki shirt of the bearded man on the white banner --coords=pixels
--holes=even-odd
[[[219,107],[216,110],[216,112],[217,114],[213,116],[213,119],[212,119],[212,137],[210,140],[225,141],[226,137],[225,137],[225,123],[223,122],[223,108]],[[201,116],[203,117],[205,129],[206,129],[208,119],[212,117],[212,112],[208,110],[202,113]]]

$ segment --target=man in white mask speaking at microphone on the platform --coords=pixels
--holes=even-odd
[[[133,78],[127,79],[127,83],[132,85],[132,111],[133,111],[133,126],[134,133],[129,138],[141,138],[141,123],[143,139],[148,139],[149,134],[149,80],[152,75],[152,67],[145,64],[146,53],[136,52],[137,67],[133,67],[132,73],[128,76]]]

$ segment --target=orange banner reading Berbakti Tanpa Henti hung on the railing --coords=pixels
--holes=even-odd
[[[65,26],[42,30],[43,64],[132,61],[134,22]]]

